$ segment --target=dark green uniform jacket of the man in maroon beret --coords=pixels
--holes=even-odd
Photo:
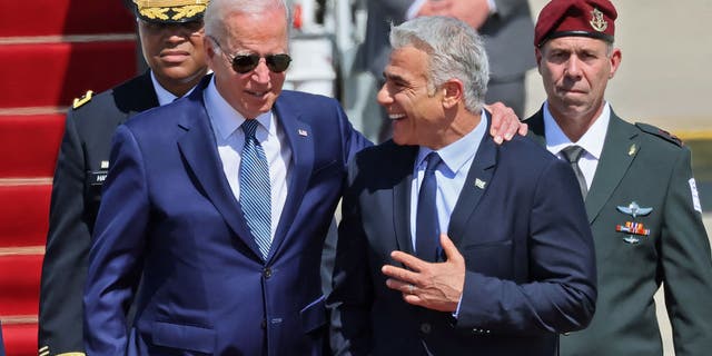
[[[525,122],[546,145],[542,111]],[[662,355],[653,303],[661,284],[676,355],[710,353],[712,263],[691,185],[690,150],[680,140],[611,112],[585,199],[599,268],[596,313],[589,328],[561,337],[561,355]]]

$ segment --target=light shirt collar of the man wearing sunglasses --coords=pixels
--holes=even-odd
[[[210,83],[206,88],[205,92],[205,106],[208,111],[208,116],[212,121],[215,135],[221,139],[227,139],[235,130],[239,129],[245,117],[235,110],[225,98],[218,92],[218,88],[215,86],[215,77],[210,79]],[[255,118],[269,134],[269,136],[277,135],[275,125],[273,125],[271,110],[259,115]]]

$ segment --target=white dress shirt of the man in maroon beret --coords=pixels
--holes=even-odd
[[[603,151],[603,141],[605,140],[605,134],[609,130],[609,121],[611,121],[611,107],[607,102],[604,103],[601,115],[596,118],[589,130],[576,142],[572,142],[568,137],[562,131],[554,117],[552,117],[548,110],[548,102],[544,103],[544,136],[546,137],[546,149],[556,155],[560,159],[564,159],[561,152],[564,148],[571,145],[581,146],[585,152],[581,155],[578,159],[578,168],[586,178],[586,188],[591,189],[591,182],[593,176],[596,174],[599,167],[599,160],[601,159],[601,152]]]

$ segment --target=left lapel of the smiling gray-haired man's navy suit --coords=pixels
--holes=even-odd
[[[395,158],[390,160],[394,164],[394,176],[404,177],[393,188],[393,225],[396,245],[398,250],[414,254],[411,236],[411,187],[418,147],[398,147],[394,144],[394,148]]]

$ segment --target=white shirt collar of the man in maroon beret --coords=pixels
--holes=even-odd
[[[611,107],[609,102],[603,105],[601,115],[593,121],[593,125],[576,142],[572,142],[564,131],[558,127],[556,120],[548,110],[548,102],[544,103],[544,137],[546,138],[546,149],[556,155],[562,149],[571,145],[578,145],[596,159],[601,158],[603,151],[603,139],[611,121]]]

